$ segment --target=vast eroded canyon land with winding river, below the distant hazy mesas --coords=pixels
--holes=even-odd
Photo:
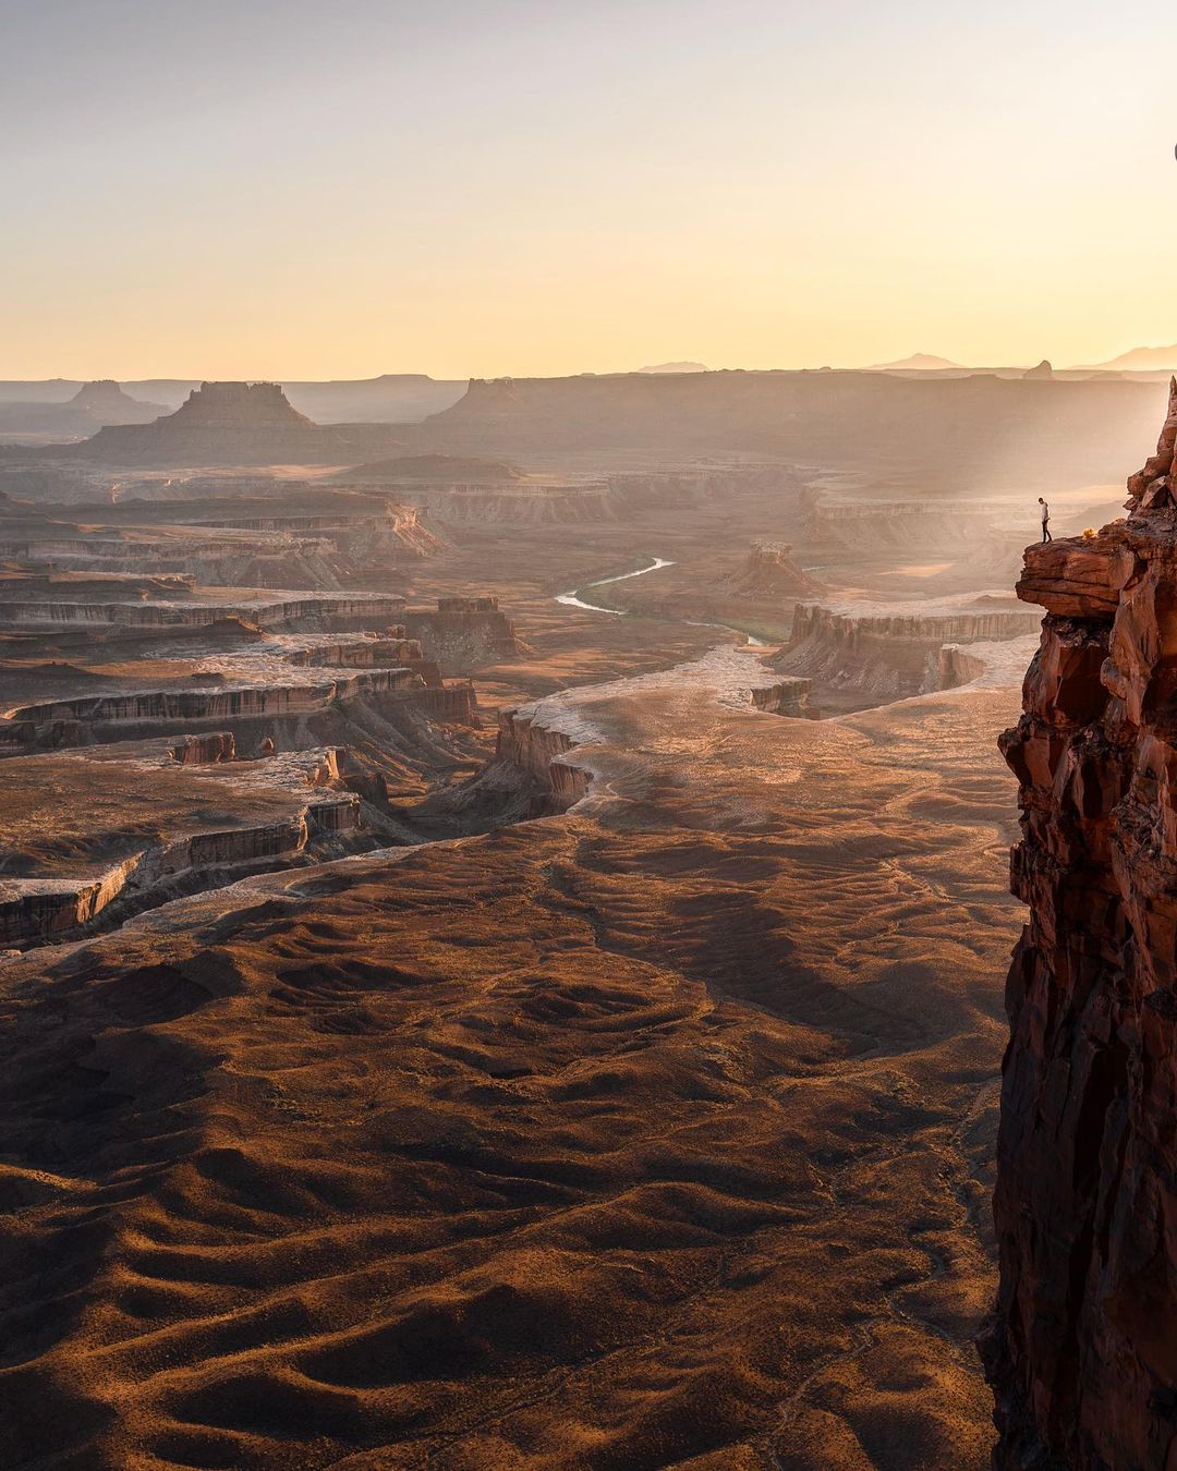
[[[989,1462],[1033,505],[693,377],[4,457],[13,1465]]]

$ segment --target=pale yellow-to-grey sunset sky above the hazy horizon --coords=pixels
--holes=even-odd
[[[1177,343],[1161,0],[0,0],[0,378]]]

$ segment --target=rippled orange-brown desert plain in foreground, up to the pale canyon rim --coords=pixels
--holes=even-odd
[[[572,812],[6,962],[7,1464],[987,1464],[1015,690],[781,719],[550,593]]]

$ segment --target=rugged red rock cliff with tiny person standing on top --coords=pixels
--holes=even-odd
[[[1177,1467],[1177,385],[1128,519],[1030,547],[983,1340],[998,1467]]]

